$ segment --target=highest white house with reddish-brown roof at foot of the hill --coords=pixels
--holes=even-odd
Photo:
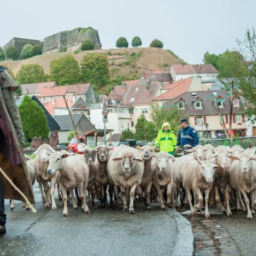
[[[203,82],[217,78],[218,71],[209,64],[185,65],[182,63],[181,65],[172,65],[170,74],[173,81],[188,78],[189,76],[197,76],[201,77]]]

